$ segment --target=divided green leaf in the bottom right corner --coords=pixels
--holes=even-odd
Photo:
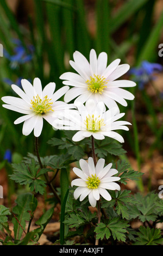
[[[161,229],[149,227],[140,227],[137,232],[137,238],[134,245],[162,245],[163,237],[161,237]]]

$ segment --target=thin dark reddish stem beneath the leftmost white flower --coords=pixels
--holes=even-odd
[[[42,162],[41,162],[41,159],[40,159],[40,154],[39,154],[39,139],[37,137],[35,137],[35,151],[36,151],[37,159],[39,161],[40,168],[42,169],[43,165],[42,165]],[[55,191],[55,189],[54,189],[54,187],[51,183],[52,181],[49,181],[48,174],[45,173],[44,176],[45,176],[45,179],[47,181],[47,185],[49,186],[52,193],[54,194],[54,196],[57,198],[58,202],[60,203],[61,202],[60,197],[58,196],[57,192]]]

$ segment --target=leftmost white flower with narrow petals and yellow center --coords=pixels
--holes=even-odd
[[[13,96],[4,96],[2,100],[7,104],[2,106],[12,111],[25,114],[14,121],[14,124],[24,122],[23,135],[29,135],[34,129],[34,136],[39,137],[43,127],[43,119],[52,125],[55,114],[64,111],[64,109],[74,107],[73,104],[68,105],[65,102],[57,101],[67,92],[69,89],[68,86],[64,86],[54,93],[55,83],[47,84],[42,90],[39,78],[34,79],[33,86],[26,79],[22,79],[21,83],[24,92],[15,84],[11,86],[21,99]]]

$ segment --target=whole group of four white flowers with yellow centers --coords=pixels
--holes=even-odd
[[[23,135],[29,135],[34,130],[34,136],[41,135],[43,119],[55,129],[76,130],[73,141],[81,141],[85,137],[104,139],[105,136],[124,142],[123,137],[115,130],[128,130],[127,121],[118,121],[124,113],[120,113],[117,102],[127,106],[126,100],[133,100],[134,95],[124,90],[125,87],[134,87],[136,84],[128,80],[116,80],[129,70],[128,64],[120,64],[120,59],[114,60],[107,66],[107,54],[102,52],[98,58],[95,50],[90,51],[90,63],[76,51],[73,54],[74,62],[70,65],[78,74],[66,72],[60,76],[64,87],[55,91],[55,83],[49,83],[42,90],[41,81],[35,78],[33,86],[28,80],[21,81],[23,90],[12,84],[12,89],[18,96],[4,96],[3,107],[23,115],[15,120],[14,124],[23,123]],[[70,89],[69,86],[73,88]],[[64,96],[64,101],[58,101]],[[68,104],[72,101],[74,103]],[[85,103],[85,105],[84,105]],[[108,110],[106,109],[108,108]],[[114,181],[119,177],[112,175],[118,171],[111,169],[111,163],[104,167],[105,160],[99,159],[96,166],[90,157],[88,162],[80,160],[80,167],[73,168],[80,179],[72,181],[72,186],[78,186],[74,191],[74,198],[82,201],[89,196],[90,204],[95,207],[100,195],[106,200],[111,196],[106,190],[120,190]]]

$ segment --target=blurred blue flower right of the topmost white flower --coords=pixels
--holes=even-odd
[[[136,76],[136,82],[139,83],[139,88],[142,90],[146,83],[155,79],[154,74],[163,70],[162,65],[158,63],[150,63],[144,60],[139,68],[130,69],[129,74]]]

